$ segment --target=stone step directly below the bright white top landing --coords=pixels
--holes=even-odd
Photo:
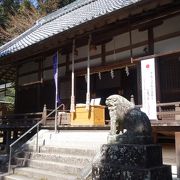
[[[36,152],[35,146],[29,146],[25,151]],[[47,154],[69,154],[69,155],[80,155],[80,156],[95,156],[97,151],[89,148],[75,148],[75,147],[56,147],[56,146],[40,146],[40,153]]]

